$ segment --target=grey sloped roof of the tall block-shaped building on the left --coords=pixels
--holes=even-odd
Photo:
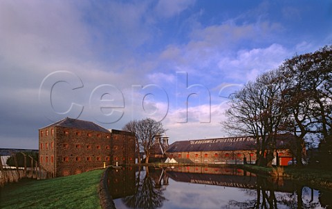
[[[60,127],[66,127],[66,128],[77,128],[82,130],[95,130],[99,132],[109,132],[106,128],[102,128],[102,126],[99,126],[91,121],[83,121],[79,119],[72,119],[69,117],[66,117],[65,119],[62,119],[61,121],[57,121],[55,123],[52,123],[46,127],[49,126],[60,126]],[[44,128],[46,128],[44,127]]]

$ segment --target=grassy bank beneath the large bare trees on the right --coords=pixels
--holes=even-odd
[[[315,168],[297,168],[293,166],[282,168],[265,168],[254,165],[242,165],[248,171],[256,172],[261,175],[272,177],[282,177],[308,183],[309,186],[332,189],[332,171],[320,170]]]

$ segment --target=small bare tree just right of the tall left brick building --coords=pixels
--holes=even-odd
[[[166,132],[166,129],[163,128],[163,123],[150,118],[130,121],[123,129],[134,132],[136,146],[138,146],[138,156],[140,150],[144,151],[146,156],[145,163],[149,163],[151,147],[156,140],[156,136],[163,135]]]

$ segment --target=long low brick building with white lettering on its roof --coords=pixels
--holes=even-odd
[[[293,159],[289,135],[278,137],[275,164],[287,166]],[[188,159],[194,163],[242,164],[255,163],[256,139],[252,137],[228,137],[176,141],[166,150],[169,159]],[[278,163],[277,160],[278,159]]]

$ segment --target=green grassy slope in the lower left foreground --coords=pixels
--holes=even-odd
[[[102,172],[11,183],[0,190],[0,208],[100,208]]]

